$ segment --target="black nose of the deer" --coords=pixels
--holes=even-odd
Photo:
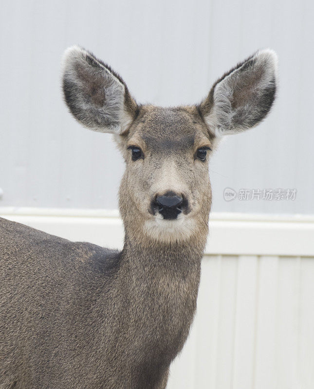
[[[174,192],[166,192],[165,195],[156,196],[151,208],[163,215],[164,219],[176,219],[184,206],[184,198]]]

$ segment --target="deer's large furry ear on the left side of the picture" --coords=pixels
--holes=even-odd
[[[63,55],[62,84],[74,118],[94,131],[123,134],[137,115],[138,106],[122,78],[78,46]]]

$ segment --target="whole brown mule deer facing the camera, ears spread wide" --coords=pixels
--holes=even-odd
[[[208,159],[223,135],[258,124],[277,57],[259,51],[196,106],[138,105],[92,53],[64,54],[74,118],[114,134],[126,171],[122,251],[0,220],[0,388],[164,389],[196,309],[208,232]]]

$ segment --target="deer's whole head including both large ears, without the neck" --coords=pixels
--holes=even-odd
[[[184,240],[207,232],[208,161],[223,135],[258,124],[275,98],[276,54],[257,52],[225,73],[200,105],[138,106],[108,65],[78,47],[64,56],[63,90],[74,117],[111,132],[126,161],[120,211],[134,237]]]

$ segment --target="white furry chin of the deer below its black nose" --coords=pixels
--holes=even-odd
[[[176,219],[167,220],[157,213],[144,223],[145,234],[154,240],[162,242],[183,241],[188,239],[195,230],[195,220],[183,213]]]

